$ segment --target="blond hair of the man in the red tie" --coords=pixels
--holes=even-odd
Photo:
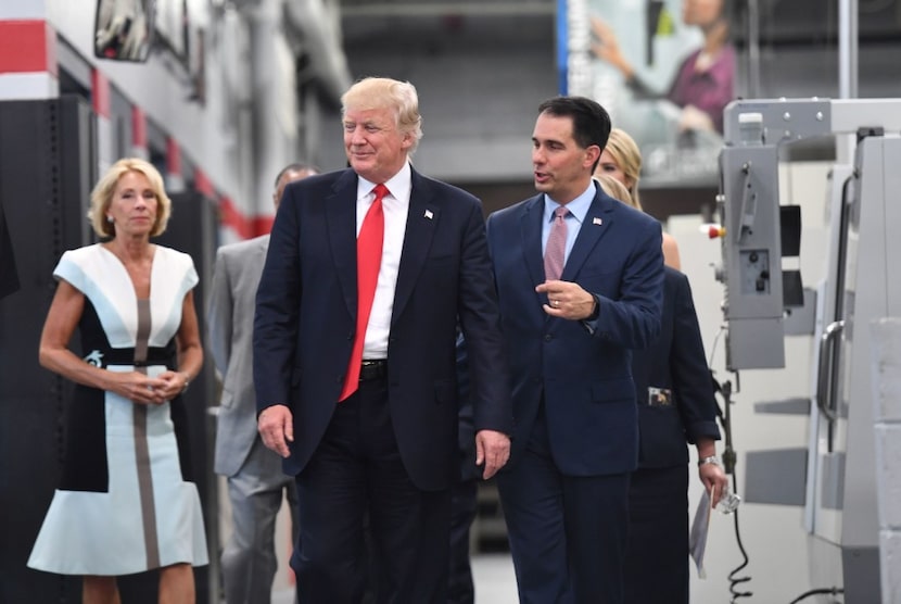
[[[413,137],[409,154],[416,151],[422,138],[422,116],[419,115],[419,96],[409,81],[388,77],[360,79],[341,97],[342,117],[348,110],[390,109],[394,112],[397,129]]]

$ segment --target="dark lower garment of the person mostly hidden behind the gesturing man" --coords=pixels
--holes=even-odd
[[[688,604],[688,467],[640,468],[629,489],[627,604]]]

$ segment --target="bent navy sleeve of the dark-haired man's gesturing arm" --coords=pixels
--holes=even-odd
[[[653,218],[640,218],[633,227],[635,244],[623,265],[619,297],[595,293],[599,304],[593,336],[629,349],[647,348],[660,334],[663,304],[662,231]]]

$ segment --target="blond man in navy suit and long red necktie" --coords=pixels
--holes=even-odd
[[[411,168],[421,119],[409,83],[367,78],[342,104],[351,167],[289,185],[272,226],[254,325],[258,429],[296,475],[301,602],[363,599],[368,514],[377,601],[443,604],[459,477],[458,320],[485,478],[507,462],[512,431],[482,207]],[[367,302],[373,254],[357,256],[358,238],[371,243],[365,216],[379,204]]]

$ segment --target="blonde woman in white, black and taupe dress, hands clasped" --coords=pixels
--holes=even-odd
[[[195,600],[207,563],[198,489],[188,476],[181,393],[203,352],[191,257],[155,246],[170,201],[139,159],[116,162],[91,193],[103,240],[63,254],[40,338],[40,364],[75,382],[61,483],[28,566],[80,575],[83,602],[118,603],[116,576],[160,569],[160,602]],[[84,357],[68,344],[76,328]]]

